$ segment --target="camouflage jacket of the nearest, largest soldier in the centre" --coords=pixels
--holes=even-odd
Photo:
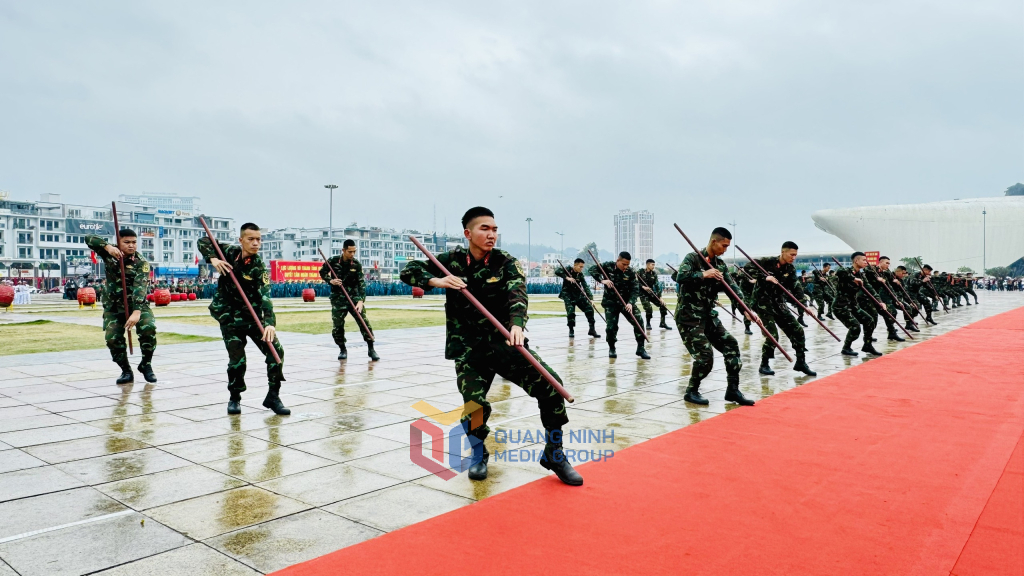
[[[508,252],[494,249],[482,260],[474,260],[461,246],[437,255],[437,260],[461,278],[469,292],[506,328],[526,326],[526,275],[519,260]],[[413,260],[401,271],[401,281],[427,290],[430,280],[444,274],[433,264]],[[458,360],[474,346],[504,346],[505,338],[480,311],[459,293],[445,290],[444,358]]]

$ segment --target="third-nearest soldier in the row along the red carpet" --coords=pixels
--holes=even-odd
[[[762,324],[776,340],[778,340],[778,328],[782,328],[782,332],[785,332],[790,343],[793,344],[793,348],[797,353],[797,363],[794,364],[793,369],[808,376],[817,376],[817,373],[807,365],[804,329],[790,312],[790,307],[786,305],[788,296],[780,288],[780,286],[784,287],[801,301],[806,297],[803,283],[797,279],[797,269],[793,265],[794,260],[797,259],[798,250],[799,247],[795,242],[785,242],[782,244],[782,252],[778,256],[758,258],[761,268],[758,268],[754,262],[749,262],[743,266],[743,270],[757,280],[754,285],[754,295],[751,298],[754,300],[753,310],[758,313]],[[762,268],[768,272],[767,276],[761,272]],[[774,375],[775,371],[769,366],[769,362],[773,358],[775,358],[775,344],[765,338],[761,346],[761,367],[758,372],[766,376]]]

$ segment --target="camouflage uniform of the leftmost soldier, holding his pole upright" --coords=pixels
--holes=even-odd
[[[127,318],[124,297],[121,294],[121,264],[106,252],[108,242],[103,238],[89,235],[85,237],[85,244],[103,259],[108,284],[106,290],[101,291],[103,333],[106,347],[111,351],[111,358],[125,368],[128,366],[128,342],[125,339]],[[138,347],[142,352],[140,366],[148,366],[153,360],[153,352],[157,349],[157,321],[153,317],[153,311],[150,310],[150,302],[145,299],[150,287],[150,262],[138,252],[125,256],[125,286],[128,287],[128,307],[132,312],[140,313],[138,324],[135,325]]]

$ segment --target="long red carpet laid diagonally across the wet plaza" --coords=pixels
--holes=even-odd
[[[278,574],[1024,574],[1022,437],[1019,308]]]

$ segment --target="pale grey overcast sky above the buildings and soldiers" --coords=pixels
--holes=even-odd
[[[0,0],[0,190],[203,198],[266,228],[612,242],[735,220],[846,249],[821,208],[1024,180],[1024,2]]]

